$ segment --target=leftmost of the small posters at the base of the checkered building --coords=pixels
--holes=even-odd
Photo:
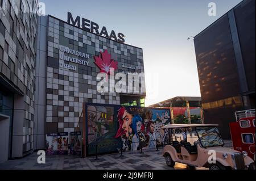
[[[46,154],[54,155],[59,154],[58,151],[58,142],[57,142],[57,134],[51,133],[46,136]]]

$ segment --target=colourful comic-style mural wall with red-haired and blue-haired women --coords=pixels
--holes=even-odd
[[[170,110],[86,104],[87,154],[152,149],[168,141]]]

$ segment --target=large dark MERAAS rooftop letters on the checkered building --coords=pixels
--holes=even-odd
[[[112,30],[110,34],[106,30],[106,27],[102,27],[100,30],[100,27],[97,23],[94,23],[88,19],[81,18],[80,16],[76,16],[76,19],[74,20],[71,12],[68,12],[68,21],[69,24],[72,24],[73,26],[77,26],[79,28],[82,28],[85,31],[89,31],[92,33],[96,33],[97,35],[104,36],[108,39],[112,39],[115,41],[118,41],[119,43],[125,43],[125,35],[123,33],[115,34],[115,31]]]

